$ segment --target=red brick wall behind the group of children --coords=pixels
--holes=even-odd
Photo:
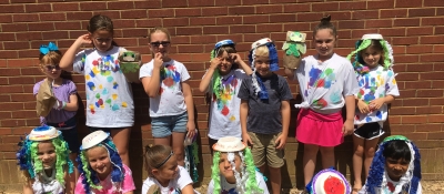
[[[163,25],[172,33],[172,55],[185,63],[192,76],[196,123],[200,130],[204,177],[210,176],[206,129],[208,105],[198,85],[209,67],[209,53],[222,39],[238,42],[243,59],[250,44],[264,37],[279,48],[287,30],[312,37],[312,29],[324,14],[331,14],[339,28],[335,51],[346,55],[364,33],[382,33],[395,53],[395,72],[401,98],[391,109],[389,134],[404,134],[420,146],[423,177],[442,180],[444,172],[444,1],[383,0],[149,0],[82,1],[0,0],[0,192],[20,190],[14,151],[20,136],[39,124],[33,83],[43,79],[38,71],[39,45],[54,41],[65,51],[74,39],[87,32],[88,20],[97,13],[109,16],[115,27],[115,41],[150,60],[149,28]],[[309,41],[309,45],[310,45]],[[314,53],[310,45],[309,54]],[[282,52],[280,52],[282,55]],[[283,71],[279,71],[283,74]],[[82,76],[72,75],[84,103]],[[290,82],[294,102],[300,99],[296,82]],[[142,174],[142,145],[152,142],[149,100],[141,85],[133,85],[135,126],[131,135],[131,165],[137,184]],[[293,103],[294,103],[293,102]],[[83,108],[79,111],[82,135]],[[296,110],[293,110],[292,118]],[[285,187],[302,186],[302,146],[294,140],[294,121],[286,145]],[[350,173],[351,139],[336,149],[339,169]],[[201,176],[201,177],[202,177]],[[205,178],[208,180],[208,178]],[[297,183],[297,184],[296,184]]]

